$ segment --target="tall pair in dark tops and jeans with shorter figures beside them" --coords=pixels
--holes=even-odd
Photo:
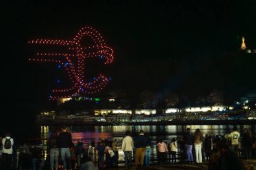
[[[84,143],[77,139],[77,144],[72,142],[71,133],[67,131],[67,127],[63,127],[61,132],[52,132],[47,141],[49,148],[50,169],[57,170],[59,165],[61,169],[79,169],[87,170],[98,169],[92,162],[92,150],[94,150],[94,141],[90,142],[88,154],[85,153]],[[59,160],[61,158],[61,161]]]

